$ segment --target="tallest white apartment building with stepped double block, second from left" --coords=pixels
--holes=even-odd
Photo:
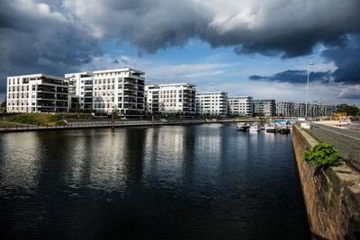
[[[78,102],[82,111],[122,116],[145,113],[145,73],[121,68],[92,73],[67,74],[72,108]]]

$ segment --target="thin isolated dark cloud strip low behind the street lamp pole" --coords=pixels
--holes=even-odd
[[[330,72],[311,72],[311,81],[320,81],[322,83],[329,82]],[[307,71],[301,70],[286,70],[281,73],[277,73],[274,76],[249,76],[250,80],[254,81],[270,81],[270,82],[286,82],[293,84],[306,84]]]

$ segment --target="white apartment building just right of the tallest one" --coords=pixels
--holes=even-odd
[[[146,86],[148,114],[196,113],[196,90],[194,84],[159,84]]]

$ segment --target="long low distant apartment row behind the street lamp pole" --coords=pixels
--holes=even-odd
[[[329,116],[335,107],[328,104],[308,103],[310,118]],[[306,104],[304,102],[276,102],[276,115],[279,117],[305,117]]]

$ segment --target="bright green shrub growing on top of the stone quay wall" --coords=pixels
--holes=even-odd
[[[311,151],[305,151],[302,161],[313,163],[316,167],[336,166],[341,163],[342,156],[338,150],[329,143],[320,143],[311,147]]]

